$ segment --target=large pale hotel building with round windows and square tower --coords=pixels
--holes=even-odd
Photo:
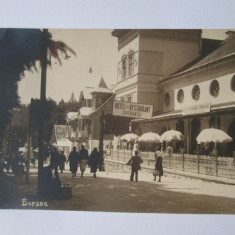
[[[153,105],[150,120],[132,119],[132,131],[181,131],[187,153],[195,153],[201,130],[218,128],[235,151],[235,33],[224,41],[203,39],[201,30],[114,30],[118,38],[116,100]],[[174,151],[180,145],[174,143]]]

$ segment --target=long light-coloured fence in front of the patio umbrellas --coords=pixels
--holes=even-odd
[[[112,160],[128,162],[131,153],[130,150],[111,150],[106,156]],[[173,154],[170,159],[166,153],[163,153],[162,156],[165,168],[235,179],[235,161],[231,157]],[[140,157],[143,159],[144,165],[154,168],[153,152],[140,152]]]

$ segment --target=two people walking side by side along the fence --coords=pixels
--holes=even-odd
[[[158,182],[161,182],[161,177],[163,176],[162,162],[162,152],[157,151],[155,154],[155,169],[153,170],[154,181],[156,181],[158,176]],[[127,165],[131,165],[130,181],[133,181],[135,176],[135,181],[138,182],[138,171],[141,169],[141,163],[143,163],[143,160],[139,156],[139,152],[135,151],[134,156],[132,156],[131,159],[127,162]]]

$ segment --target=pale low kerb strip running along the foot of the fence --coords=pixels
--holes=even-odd
[[[107,170],[114,167],[114,165],[116,165],[120,169],[130,168],[130,166],[126,166],[126,162],[105,159],[105,167]],[[141,165],[141,171],[152,174],[153,167]],[[219,183],[219,184],[235,185],[235,179],[223,178],[223,177],[212,176],[212,175],[202,175],[202,174],[197,174],[194,172],[180,171],[180,170],[169,169],[169,168],[163,168],[163,171],[164,171],[165,176],[177,175],[183,178],[203,180],[203,181],[214,182],[214,183]]]

